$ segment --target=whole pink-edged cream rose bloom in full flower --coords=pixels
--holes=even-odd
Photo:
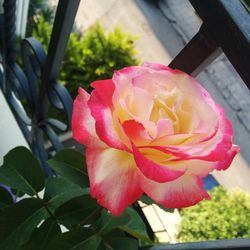
[[[192,77],[146,63],[95,81],[74,101],[73,138],[86,145],[90,193],[114,215],[146,193],[167,208],[209,195],[203,178],[239,147],[223,109]]]

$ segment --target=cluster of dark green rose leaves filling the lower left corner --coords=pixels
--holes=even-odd
[[[28,198],[13,203],[0,187],[1,250],[133,250],[151,243],[133,208],[113,216],[90,197],[85,160],[79,152],[64,149],[48,164],[57,175],[45,177],[24,147],[4,157],[0,182]],[[62,232],[61,226],[68,231]]]

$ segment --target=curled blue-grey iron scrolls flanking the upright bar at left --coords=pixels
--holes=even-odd
[[[29,104],[33,111],[32,121],[35,123],[35,127],[42,129],[47,134],[48,139],[57,150],[62,146],[61,143],[57,141],[57,136],[54,138],[54,135],[56,135],[54,129],[61,132],[66,132],[70,129],[72,98],[63,85],[56,81],[50,82],[48,86],[45,87],[46,96],[44,96],[43,102],[48,102],[50,107],[64,113],[67,122],[64,123],[54,118],[45,118],[48,111],[47,108],[42,110],[43,114],[41,117],[43,117],[43,119],[34,117],[36,115],[35,110],[44,106],[43,103],[38,103],[37,100],[39,98],[39,85],[42,84],[41,78],[46,62],[46,53],[41,44],[34,38],[26,38],[23,40],[21,52],[31,95]]]

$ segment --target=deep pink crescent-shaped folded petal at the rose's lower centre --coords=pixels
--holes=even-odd
[[[170,169],[168,166],[160,165],[148,159],[137,149],[133,142],[131,144],[136,165],[149,179],[157,182],[167,182],[175,180],[185,173],[185,171]]]

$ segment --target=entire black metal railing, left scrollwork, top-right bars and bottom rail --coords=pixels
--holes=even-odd
[[[170,63],[197,75],[222,51],[250,88],[250,15],[237,0],[190,0],[203,25],[193,39]],[[16,1],[5,0],[0,14],[0,86],[32,151],[50,174],[46,159],[63,147],[56,131],[70,130],[72,99],[57,83],[60,64],[80,0],[60,0],[46,55],[34,38],[22,41],[24,68],[16,63]],[[20,105],[22,100],[24,106]],[[67,123],[47,117],[48,106],[61,110]],[[28,111],[27,111],[28,109]],[[45,146],[50,141],[51,147]],[[159,245],[142,249],[250,249],[250,239]]]

